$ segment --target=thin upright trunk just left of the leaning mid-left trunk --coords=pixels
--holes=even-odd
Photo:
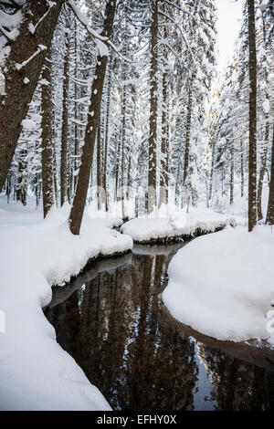
[[[68,200],[68,73],[69,73],[69,34],[66,33],[64,81],[63,81],[63,115],[61,137],[61,205]]]

